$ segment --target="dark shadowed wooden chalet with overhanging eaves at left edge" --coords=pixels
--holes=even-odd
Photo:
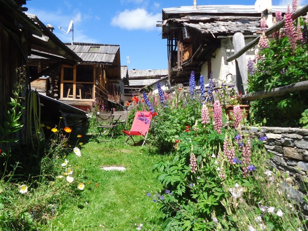
[[[7,113],[7,103],[12,97],[14,85],[18,82],[17,68],[25,67],[27,91],[25,90],[22,96],[26,98],[26,92],[31,88],[29,55],[36,53],[45,56],[48,53],[49,58],[66,60],[71,65],[81,61],[80,57],[65,46],[41,21],[24,13],[27,10],[23,7],[25,4],[26,1],[21,0],[0,0],[0,122],[2,124]]]

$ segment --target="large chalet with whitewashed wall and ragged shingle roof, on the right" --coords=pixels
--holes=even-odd
[[[275,12],[286,12],[286,7],[273,6],[263,16],[272,26]],[[236,75],[235,61],[226,62],[234,53],[232,37],[236,32],[244,35],[245,44],[259,36],[261,13],[255,6],[213,5],[184,6],[163,9],[162,38],[167,40],[168,70],[171,81],[187,83],[191,71],[229,82]],[[254,59],[255,49],[246,54]],[[205,81],[206,82],[206,81]]]

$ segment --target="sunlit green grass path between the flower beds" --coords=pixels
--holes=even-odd
[[[142,223],[142,230],[161,230],[159,205],[146,194],[159,189],[152,166],[165,157],[151,155],[148,147],[123,146],[124,141],[120,137],[89,142],[81,149],[82,158],[68,157],[76,164],[74,174],[84,179],[85,189],[80,198],[63,202],[61,215],[49,224],[50,230],[127,231],[137,230],[135,223]],[[102,170],[106,165],[126,170]]]

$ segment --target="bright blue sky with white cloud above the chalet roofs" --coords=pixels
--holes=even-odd
[[[267,0],[264,0],[267,1]],[[299,1],[305,5],[308,0]],[[273,5],[292,4],[292,0],[273,0]],[[193,0],[31,0],[28,13],[45,25],[51,24],[62,42],[71,42],[64,34],[74,22],[74,42],[120,45],[121,65],[129,69],[166,69],[166,40],[162,40],[162,9],[192,6]],[[197,5],[254,5],[255,0],[197,0]],[[129,64],[127,57],[129,56]]]

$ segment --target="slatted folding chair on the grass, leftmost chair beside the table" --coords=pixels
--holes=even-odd
[[[97,127],[98,127],[98,139],[99,137],[104,136],[109,136],[111,134],[111,137],[109,140],[112,139],[114,132],[115,132],[115,127],[118,125],[113,123],[113,116],[112,112],[98,112],[97,113]],[[108,131],[107,134],[105,134]],[[105,139],[99,139],[99,140],[105,140]],[[105,140],[107,141],[107,140]]]

